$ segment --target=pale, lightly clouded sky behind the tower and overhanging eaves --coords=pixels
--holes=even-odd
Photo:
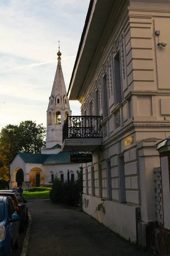
[[[0,129],[25,120],[46,127],[58,41],[68,90],[89,2],[0,0]],[[70,101],[72,115],[80,106]]]

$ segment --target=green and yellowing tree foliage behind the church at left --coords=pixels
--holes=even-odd
[[[41,153],[45,146],[45,128],[31,120],[6,125],[0,132],[0,180],[10,181],[9,162],[17,151]]]

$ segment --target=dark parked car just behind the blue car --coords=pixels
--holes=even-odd
[[[0,195],[10,196],[12,198],[17,214],[20,216],[20,231],[24,231],[25,224],[28,223],[27,200],[24,199],[20,193],[13,190],[0,190]]]

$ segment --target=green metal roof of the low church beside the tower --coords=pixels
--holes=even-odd
[[[59,152],[58,154],[32,154],[32,153],[17,152],[17,154],[19,154],[19,156],[23,159],[25,163],[41,163],[41,164],[70,163],[70,155],[68,154],[68,152]]]

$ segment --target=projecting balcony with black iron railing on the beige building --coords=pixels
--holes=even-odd
[[[102,143],[102,116],[67,116],[62,126],[62,151],[94,150]]]

